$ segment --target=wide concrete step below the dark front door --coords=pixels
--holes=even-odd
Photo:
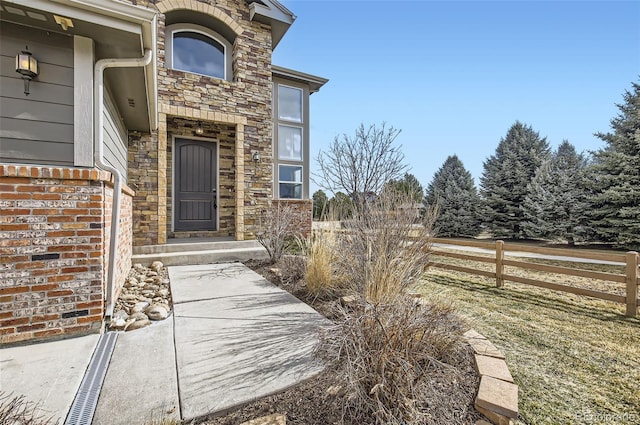
[[[165,266],[190,266],[266,258],[267,251],[257,241],[221,241],[134,247],[131,262],[148,265],[162,261]]]

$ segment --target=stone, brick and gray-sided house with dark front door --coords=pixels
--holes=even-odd
[[[0,342],[99,332],[134,247],[253,239],[272,202],[310,229],[327,80],[272,64],[280,3],[0,0],[0,20]]]

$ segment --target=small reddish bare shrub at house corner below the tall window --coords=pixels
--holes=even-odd
[[[256,239],[267,250],[272,264],[277,263],[290,241],[298,238],[296,209],[286,203],[275,203],[260,217]]]

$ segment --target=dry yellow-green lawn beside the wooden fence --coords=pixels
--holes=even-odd
[[[619,270],[608,267],[589,268]],[[569,283],[605,289],[578,279]],[[504,351],[519,385],[520,423],[640,423],[640,320],[625,317],[622,304],[511,282],[496,288],[493,279],[439,269],[417,289],[452,303]]]

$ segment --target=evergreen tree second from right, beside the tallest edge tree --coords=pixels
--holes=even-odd
[[[588,236],[587,160],[564,140],[536,171],[522,210],[526,236],[574,245]]]

